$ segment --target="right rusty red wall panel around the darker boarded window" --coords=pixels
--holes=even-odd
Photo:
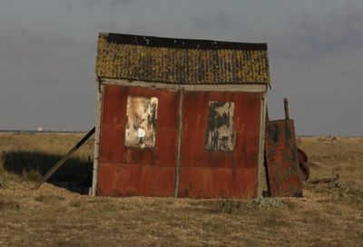
[[[257,196],[260,99],[258,93],[185,92],[180,197]],[[204,148],[210,101],[234,102],[232,152]]]

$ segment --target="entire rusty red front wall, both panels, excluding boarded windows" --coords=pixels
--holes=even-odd
[[[159,99],[154,149],[125,147],[127,97]],[[260,93],[184,92],[180,197],[257,196]],[[172,196],[179,93],[105,85],[98,195]],[[234,102],[234,151],[205,149],[209,102]]]

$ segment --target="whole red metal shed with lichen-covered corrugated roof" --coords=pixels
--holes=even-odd
[[[100,34],[93,195],[251,198],[267,44]]]

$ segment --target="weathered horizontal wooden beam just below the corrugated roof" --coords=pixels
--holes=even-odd
[[[223,91],[223,92],[267,92],[268,84],[162,84],[144,81],[129,81],[123,79],[101,79],[102,84],[113,84],[121,86],[140,86],[154,89],[165,89],[178,91]]]

